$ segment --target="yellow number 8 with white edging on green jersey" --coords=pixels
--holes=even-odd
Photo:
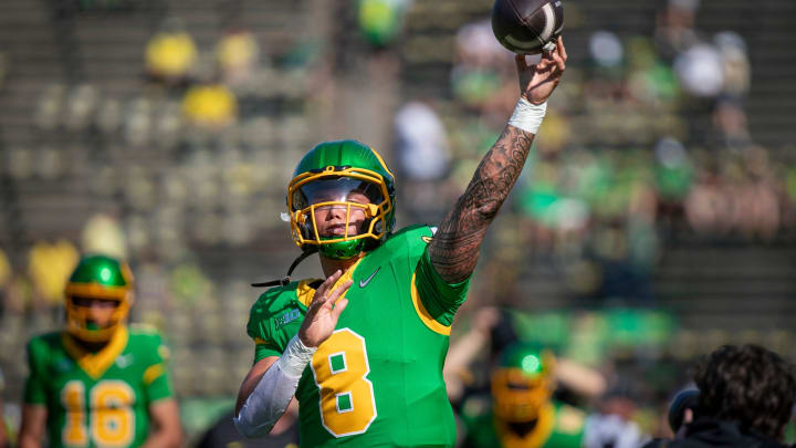
[[[315,352],[311,367],[324,428],[335,437],[365,433],[376,419],[365,338],[349,329],[336,330]]]

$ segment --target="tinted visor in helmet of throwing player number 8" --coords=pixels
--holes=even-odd
[[[321,202],[381,204],[385,200],[377,184],[350,177],[314,180],[293,192],[293,210]]]

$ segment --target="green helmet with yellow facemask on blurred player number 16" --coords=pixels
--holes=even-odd
[[[87,342],[107,341],[127,319],[133,302],[133,273],[127,263],[105,256],[86,256],[66,283],[66,331]],[[88,322],[88,309],[81,299],[118,301],[111,324],[100,327]]]

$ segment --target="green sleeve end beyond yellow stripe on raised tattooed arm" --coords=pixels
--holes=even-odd
[[[415,286],[429,315],[442,325],[450,326],[453,315],[467,299],[470,279],[459,283],[442,280],[431,264],[427,247],[415,271]]]

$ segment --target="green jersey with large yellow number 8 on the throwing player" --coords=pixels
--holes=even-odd
[[[442,365],[469,280],[437,274],[426,250],[432,237],[427,226],[406,228],[339,280],[354,281],[348,306],[296,390],[302,446],[453,446]],[[255,362],[282,355],[317,285],[304,280],[260,296],[248,324]]]

